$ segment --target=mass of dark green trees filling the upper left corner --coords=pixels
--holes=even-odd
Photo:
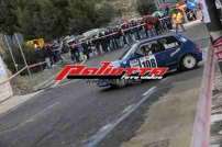
[[[109,23],[113,9],[103,0],[1,0],[0,32],[46,41]]]

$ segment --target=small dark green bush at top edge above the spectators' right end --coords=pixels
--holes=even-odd
[[[156,10],[153,0],[137,0],[137,11],[141,15],[152,14]]]

